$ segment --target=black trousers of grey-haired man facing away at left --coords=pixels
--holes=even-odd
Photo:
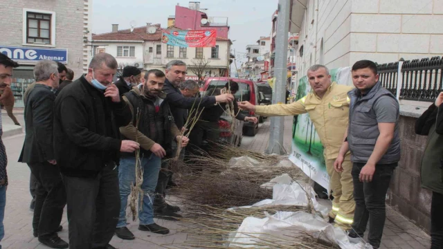
[[[60,168],[51,163],[28,164],[37,181],[33,229],[40,238],[51,237],[57,232],[66,205],[66,192]]]

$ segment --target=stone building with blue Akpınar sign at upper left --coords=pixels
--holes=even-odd
[[[62,62],[74,71],[75,77],[87,70],[91,56],[87,46],[91,39],[91,0],[17,0],[3,4],[3,8],[0,53],[20,64],[14,70],[11,85],[15,107],[24,107],[24,91],[34,82],[33,68],[40,60]]]

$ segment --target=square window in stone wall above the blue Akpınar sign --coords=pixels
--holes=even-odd
[[[51,14],[26,12],[26,43],[51,44]]]

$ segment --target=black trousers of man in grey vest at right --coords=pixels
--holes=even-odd
[[[360,237],[366,230],[369,221],[368,242],[373,248],[379,248],[386,220],[386,192],[390,178],[398,163],[376,165],[370,183],[359,180],[361,169],[365,163],[354,163],[352,180],[354,181],[355,212],[352,229]]]

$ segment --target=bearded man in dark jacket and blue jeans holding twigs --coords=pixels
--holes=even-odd
[[[161,93],[165,82],[165,74],[158,69],[152,69],[145,74],[143,85],[135,86],[132,91],[125,93],[123,99],[129,104],[132,112],[132,122],[126,127],[120,127],[120,132],[127,139],[140,143],[139,156],[143,169],[143,204],[138,213],[140,225],[138,230],[158,234],[168,234],[168,228],[154,223],[154,190],[161,168],[161,158],[170,156],[171,142],[182,140],[182,147],[188,144],[188,138],[181,136],[174,118],[165,101],[166,95]],[[137,153],[137,152],[136,152]],[[120,158],[118,178],[120,183],[120,218],[116,235],[120,239],[134,239],[134,234],[126,227],[127,197],[131,187],[136,182],[136,154],[125,153]]]

